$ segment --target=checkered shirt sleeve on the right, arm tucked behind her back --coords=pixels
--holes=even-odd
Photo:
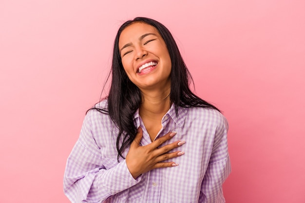
[[[210,162],[201,185],[199,203],[225,203],[222,185],[231,172],[228,153],[228,122],[224,116],[216,128]]]

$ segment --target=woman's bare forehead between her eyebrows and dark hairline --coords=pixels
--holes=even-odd
[[[119,37],[119,46],[132,42],[133,40],[138,40],[139,37],[147,33],[153,33],[160,36],[158,30],[152,25],[144,22],[134,22],[122,31]]]

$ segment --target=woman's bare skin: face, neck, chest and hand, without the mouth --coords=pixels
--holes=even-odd
[[[162,128],[161,119],[171,107],[169,94],[172,62],[159,32],[151,25],[134,22],[122,31],[118,46],[126,74],[142,92],[139,114],[152,140],[151,144],[140,146],[143,133],[139,128],[130,146],[126,164],[133,178],[136,179],[142,173],[155,168],[178,166],[174,162],[164,161],[183,155],[183,151],[169,151],[185,142],[178,140],[158,148],[162,143],[172,139],[176,132],[169,132],[155,139]],[[156,62],[157,65],[143,69],[141,73],[138,72],[141,65],[151,61]]]

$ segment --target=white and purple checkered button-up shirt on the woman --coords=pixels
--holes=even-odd
[[[107,100],[99,105],[105,106]],[[143,129],[141,145],[151,143],[139,116],[136,126]],[[162,118],[163,129],[177,134],[163,145],[176,140],[186,144],[174,149],[184,151],[172,160],[179,166],[157,168],[136,180],[126,162],[117,162],[115,147],[118,129],[108,114],[89,111],[78,141],[65,170],[64,191],[72,203],[224,203],[222,184],[231,167],[228,154],[226,118],[218,111],[205,108],[174,106]],[[163,146],[162,145],[162,146]],[[123,155],[126,157],[128,149]]]

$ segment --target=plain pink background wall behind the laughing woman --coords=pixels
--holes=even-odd
[[[229,120],[227,202],[305,203],[304,0],[1,0],[0,202],[69,202],[66,159],[136,16],[171,30]]]

